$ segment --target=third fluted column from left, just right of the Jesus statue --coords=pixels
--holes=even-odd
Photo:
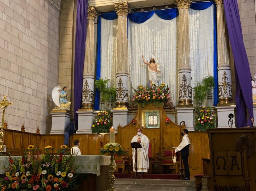
[[[178,78],[179,103],[178,106],[192,107],[190,46],[189,46],[189,12],[190,0],[177,0],[179,9],[178,23]]]

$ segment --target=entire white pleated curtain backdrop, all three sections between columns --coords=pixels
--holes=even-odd
[[[133,89],[138,85],[148,85],[147,65],[141,56],[158,60],[161,83],[170,87],[174,106],[178,103],[178,77],[176,61],[176,18],[164,20],[154,14],[142,24],[129,20],[129,96],[132,104]],[[189,9],[190,61],[192,87],[202,82],[204,77],[213,76],[213,5],[202,11]],[[109,78],[115,84],[117,52],[117,19],[101,18],[101,78]]]

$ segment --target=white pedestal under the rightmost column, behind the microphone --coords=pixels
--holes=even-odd
[[[218,113],[218,128],[229,128],[228,115],[232,113],[235,116],[236,105],[231,106],[216,106]],[[233,118],[233,126],[235,127],[235,117]]]

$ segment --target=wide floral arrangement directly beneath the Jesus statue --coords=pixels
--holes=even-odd
[[[137,90],[134,89],[134,95],[132,101],[143,103],[143,102],[164,102],[170,98],[168,85],[162,83],[160,86],[152,84],[150,88],[139,85]]]

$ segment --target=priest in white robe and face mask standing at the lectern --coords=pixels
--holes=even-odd
[[[137,135],[132,138],[131,143],[137,142],[141,144],[141,148],[137,148],[137,172],[147,172],[149,168],[148,161],[148,138],[143,135],[141,129],[137,129]],[[133,171],[135,172],[135,148],[132,150]]]

